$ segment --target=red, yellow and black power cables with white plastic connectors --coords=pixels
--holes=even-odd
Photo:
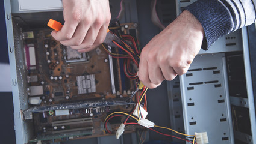
[[[116,22],[116,23],[118,23],[118,22]],[[117,37],[120,38],[121,43],[117,43],[117,41],[114,41],[114,40],[112,41],[117,46],[117,49],[113,48],[113,47],[108,47],[105,44],[102,44],[102,46],[104,47],[106,52],[113,58],[123,58],[124,59],[123,69],[124,69],[125,75],[129,79],[137,80],[137,82],[139,82],[139,79],[137,76],[137,71],[134,71],[134,69],[137,69],[139,67],[139,60],[140,60],[140,53],[141,53],[138,41],[136,40],[136,38],[134,38],[131,35],[122,35],[120,33],[121,27],[119,25],[112,26],[109,29],[111,30],[111,32],[113,32],[113,34],[117,35]],[[119,139],[120,135],[122,135],[126,126],[141,125],[141,124],[138,124],[138,122],[146,118],[146,116],[144,116],[145,118],[143,118],[142,109],[145,112],[147,111],[147,101],[146,101],[146,91],[147,90],[148,90],[148,88],[143,86],[143,89],[142,89],[142,92],[140,93],[140,95],[137,92],[136,105],[134,106],[134,109],[131,111],[130,114],[124,113],[124,112],[113,112],[107,116],[107,118],[104,121],[105,133],[111,134],[111,131],[108,130],[108,128],[107,128],[107,123],[111,118],[115,118],[117,116],[126,116],[126,118],[120,125],[119,129],[117,130],[117,134],[116,134],[117,139]],[[146,112],[146,114],[148,114],[148,113]],[[130,122],[128,122],[128,120]],[[151,121],[149,121],[149,122],[151,122]],[[152,124],[154,124],[154,123],[152,123]],[[181,136],[173,136],[170,134],[164,134],[158,130],[155,130],[157,128],[163,128],[166,130],[170,130],[172,132],[175,132],[176,134],[180,134]],[[161,127],[158,125],[153,125],[153,127],[148,127],[148,129],[154,131],[155,133],[164,135],[164,136],[175,137],[176,139],[181,139],[186,142],[196,143],[195,135],[179,133],[178,131],[172,130],[167,127]],[[140,140],[140,141],[143,142],[143,140]]]

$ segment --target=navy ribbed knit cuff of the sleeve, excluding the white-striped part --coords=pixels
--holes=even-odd
[[[232,30],[230,14],[217,0],[198,0],[184,9],[190,11],[204,28],[205,38],[202,43],[204,50]]]

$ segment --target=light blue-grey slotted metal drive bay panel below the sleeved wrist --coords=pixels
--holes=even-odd
[[[233,143],[233,128],[223,53],[198,55],[180,76],[187,134],[207,131],[210,143]]]

